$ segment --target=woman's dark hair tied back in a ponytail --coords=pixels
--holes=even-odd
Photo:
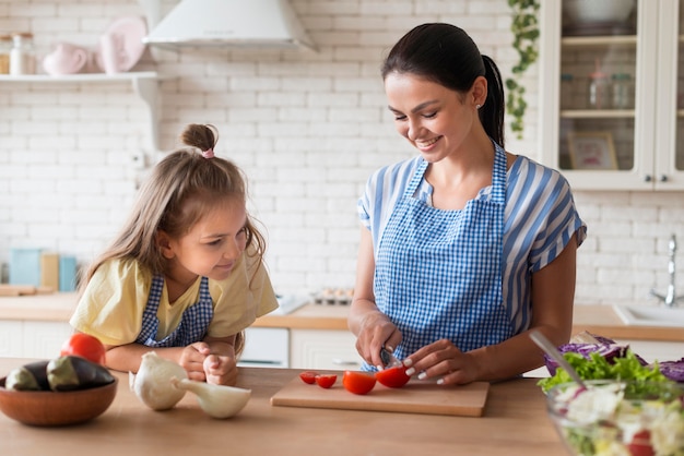
[[[391,72],[410,73],[459,93],[477,76],[487,80],[487,98],[480,108],[484,131],[504,146],[504,85],[496,63],[480,53],[470,36],[451,24],[423,24],[405,34],[382,64],[382,80]]]

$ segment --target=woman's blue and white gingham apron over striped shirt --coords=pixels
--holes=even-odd
[[[426,169],[398,201],[376,259],[376,303],[402,333],[399,359],[441,338],[469,351],[514,334],[502,295],[506,153],[495,144],[490,199],[461,211],[413,196]]]

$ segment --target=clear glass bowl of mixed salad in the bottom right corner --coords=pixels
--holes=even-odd
[[[564,383],[546,393],[566,447],[582,456],[684,454],[684,384],[616,380]]]

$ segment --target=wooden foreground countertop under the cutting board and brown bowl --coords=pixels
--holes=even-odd
[[[27,360],[0,359],[0,376]],[[534,379],[493,384],[484,416],[273,407],[270,397],[299,371],[243,368],[238,386],[252,391],[234,418],[204,415],[190,393],[172,410],[153,411],[119,377],[107,411],[80,425],[33,428],[0,413],[5,455],[510,455],[565,454]],[[312,386],[316,387],[316,386]]]

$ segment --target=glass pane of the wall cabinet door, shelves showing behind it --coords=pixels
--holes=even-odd
[[[614,14],[588,3],[562,5],[558,167],[629,170],[639,80],[637,2],[623,0]]]

